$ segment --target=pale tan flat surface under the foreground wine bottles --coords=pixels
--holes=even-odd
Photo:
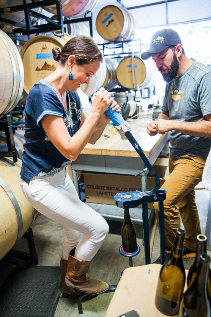
[[[130,310],[137,311],[140,317],[165,317],[154,303],[161,267],[161,264],[147,264],[126,268],[105,317],[118,317]],[[188,270],[185,270],[185,273],[187,276]],[[186,289],[187,282],[184,291]]]

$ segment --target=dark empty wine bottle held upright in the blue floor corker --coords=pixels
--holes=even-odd
[[[133,253],[137,249],[136,230],[130,219],[129,209],[124,209],[124,221],[121,227],[122,249],[126,253]]]

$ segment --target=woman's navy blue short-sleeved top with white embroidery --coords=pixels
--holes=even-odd
[[[67,91],[68,114],[53,86],[40,80],[30,90],[24,110],[25,139],[21,178],[29,183],[34,176],[46,176],[71,164],[53,145],[40,120],[46,115],[62,117],[73,136],[80,126],[82,106],[76,92]]]

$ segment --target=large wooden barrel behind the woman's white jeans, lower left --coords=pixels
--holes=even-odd
[[[0,159],[0,259],[28,230],[39,213],[34,210],[20,187],[22,162]]]

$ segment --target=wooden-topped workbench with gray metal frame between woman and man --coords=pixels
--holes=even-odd
[[[131,134],[142,148],[150,164],[153,165],[168,141],[168,134],[149,136],[145,119],[133,119],[129,124]],[[135,175],[146,167],[128,140],[122,140],[116,130],[115,134],[109,134],[112,127],[113,125],[108,124],[107,130],[105,129],[103,133],[109,135],[109,138],[101,137],[94,145],[87,144],[77,160],[72,162],[73,182],[78,193],[77,170]],[[147,173],[142,174],[141,178],[143,191],[147,190],[146,175]]]

